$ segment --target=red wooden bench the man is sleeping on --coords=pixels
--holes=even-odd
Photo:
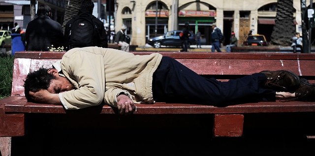
[[[133,52],[147,55],[154,52]],[[60,60],[64,52],[16,52],[13,71],[12,95],[0,100],[0,144],[10,151],[11,137],[25,135],[25,116],[28,114],[68,114],[61,105],[27,102],[24,96],[23,80],[26,75],[40,67],[51,67]],[[175,58],[200,75],[216,77],[221,81],[238,78],[262,70],[290,70],[315,83],[315,54],[281,53],[183,53],[162,52],[163,56]],[[228,104],[227,104],[228,105]],[[182,103],[137,104],[134,115],[167,114],[213,114],[213,135],[238,137],[243,135],[243,125],[248,114],[259,113],[314,113],[315,102],[259,102],[214,107]],[[110,106],[91,107],[80,113],[115,114]],[[94,111],[97,110],[97,111]],[[72,111],[73,113],[73,111]],[[210,122],[211,123],[211,122]],[[0,147],[1,150],[1,147]],[[2,156],[5,156],[2,154]]]

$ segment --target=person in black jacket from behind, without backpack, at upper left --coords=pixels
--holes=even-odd
[[[48,5],[40,5],[37,16],[26,28],[26,49],[49,51],[51,48],[63,47],[63,29],[58,22],[50,19],[51,8]]]

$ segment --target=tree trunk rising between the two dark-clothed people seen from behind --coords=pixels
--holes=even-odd
[[[78,14],[80,10],[81,0],[65,0],[65,12],[63,19],[63,31],[65,24],[75,15]]]

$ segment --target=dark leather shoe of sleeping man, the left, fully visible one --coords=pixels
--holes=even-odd
[[[267,77],[266,87],[275,91],[290,92],[295,91],[300,86],[300,78],[291,71],[277,70],[261,71]]]

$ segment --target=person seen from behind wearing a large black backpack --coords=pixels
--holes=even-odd
[[[92,0],[82,0],[78,15],[67,22],[64,40],[67,49],[97,46],[107,48],[107,35],[103,22],[92,15]]]

